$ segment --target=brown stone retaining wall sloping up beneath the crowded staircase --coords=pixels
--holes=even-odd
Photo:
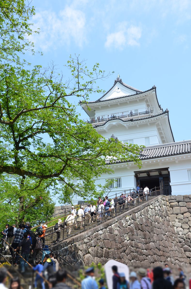
[[[180,207],[170,208],[168,197],[159,196],[128,213],[57,243],[53,250],[58,251],[70,264],[76,265],[91,265],[92,262],[105,264],[111,259],[130,266],[144,267],[162,265],[165,262],[179,266],[189,264],[187,256],[190,245],[183,243],[184,238],[181,239],[176,234],[179,225],[175,228],[173,225],[180,222],[177,221],[178,218],[175,222],[174,215],[177,214],[173,214],[172,223],[173,210],[178,213]],[[182,233],[183,224],[181,223]],[[188,238],[185,237],[185,240]]]

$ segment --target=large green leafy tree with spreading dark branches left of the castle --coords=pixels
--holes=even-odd
[[[78,57],[70,57],[67,80],[53,64],[42,69],[20,61],[18,53],[32,46],[25,35],[32,33],[29,17],[34,13],[23,0],[0,1],[0,174],[4,186],[10,184],[9,192],[16,191],[10,202],[18,210],[18,221],[28,218],[30,210],[42,210],[39,197],[50,197],[50,189],[62,202],[70,201],[72,192],[87,199],[96,192],[94,181],[112,173],[105,166],[108,157],[141,166],[139,146],[105,140],[80,120],[72,104],[80,97],[88,106],[89,96],[102,92],[96,82],[110,74],[98,63],[89,70]],[[80,179],[77,186],[74,177]]]

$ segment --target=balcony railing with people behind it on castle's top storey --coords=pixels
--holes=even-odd
[[[91,123],[92,125],[95,124],[101,124],[105,123],[108,120],[111,119],[116,119],[116,118],[121,118],[124,120],[131,119],[131,118],[142,118],[144,116],[151,116],[154,115],[154,110],[155,108],[148,107],[148,108],[139,108],[139,109],[132,109],[128,111],[121,111],[121,112],[115,112],[113,114],[108,114],[108,115],[100,115],[100,116],[94,116],[87,118],[86,120],[84,119],[85,122]]]

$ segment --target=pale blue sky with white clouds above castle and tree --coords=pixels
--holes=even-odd
[[[62,70],[76,53],[89,67],[98,62],[106,72],[115,71],[98,83],[106,91],[118,73],[140,90],[155,85],[175,141],[191,139],[190,0],[33,0],[32,5],[31,22],[41,29],[32,40],[43,52],[30,56],[33,64],[53,61]]]

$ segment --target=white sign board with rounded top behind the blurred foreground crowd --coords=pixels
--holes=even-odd
[[[117,266],[118,273],[125,273],[125,278],[126,280],[129,281],[129,267],[115,260],[109,260],[104,266],[108,289],[113,289],[113,281],[112,281],[113,271],[111,269],[113,265]]]

